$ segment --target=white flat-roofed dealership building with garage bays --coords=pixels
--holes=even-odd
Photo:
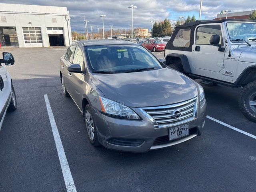
[[[0,3],[2,46],[69,46],[71,42],[66,7]]]

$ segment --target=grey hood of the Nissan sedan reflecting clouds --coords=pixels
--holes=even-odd
[[[129,107],[161,106],[198,96],[194,82],[170,68],[132,73],[93,74],[92,82],[106,98]]]

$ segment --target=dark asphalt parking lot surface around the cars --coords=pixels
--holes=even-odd
[[[0,130],[0,191],[255,191],[256,124],[238,108],[240,88],[202,85],[208,104],[202,136],[143,154],[94,148],[82,114],[62,94],[59,58],[65,50],[0,49],[14,55],[15,64],[7,68],[18,103]],[[164,57],[164,52],[154,54]],[[65,165],[60,164],[45,95]],[[70,170],[74,186],[66,185],[63,167]]]

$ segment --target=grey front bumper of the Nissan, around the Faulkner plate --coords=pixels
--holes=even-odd
[[[154,128],[150,119],[138,108],[132,108],[143,120],[125,120],[106,116],[93,110],[99,142],[106,148],[126,152],[148,152],[185,142],[202,134],[206,118],[206,103],[198,109],[198,117],[189,124],[190,134],[176,140],[168,140],[168,130],[172,127]]]

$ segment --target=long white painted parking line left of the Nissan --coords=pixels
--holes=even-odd
[[[44,100],[45,100],[45,104],[46,104],[46,108],[47,108],[47,112],[48,112],[48,116],[50,119],[50,124],[52,127],[52,133],[54,136],[54,141],[55,141],[55,145],[57,148],[57,152],[58,152],[58,156],[59,156],[59,160],[60,160],[60,166],[62,169],[62,174],[64,177],[64,181],[66,184],[66,189],[67,192],[76,192],[76,186],[74,184],[71,172],[70,172],[70,168],[68,166],[68,160],[66,158],[66,154],[64,152],[64,148],[60,139],[60,134],[58,131],[58,128],[56,126],[56,122],[52,113],[52,108],[50,106],[50,102],[48,99],[47,95],[44,95]]]

